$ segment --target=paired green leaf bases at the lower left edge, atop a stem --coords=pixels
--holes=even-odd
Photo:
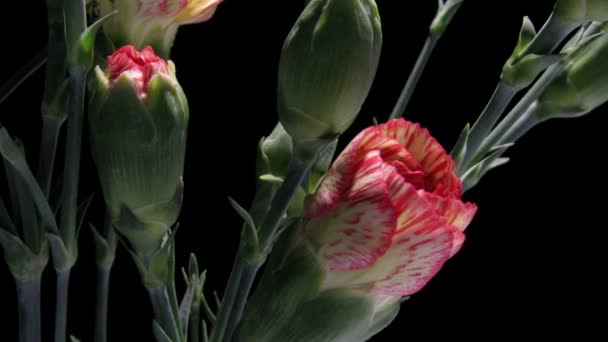
[[[49,260],[48,243],[45,241],[40,251],[34,253],[21,239],[0,228],[0,246],[4,250],[4,260],[13,277],[31,279],[40,277]]]

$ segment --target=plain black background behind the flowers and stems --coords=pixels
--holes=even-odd
[[[276,122],[280,48],[302,3],[226,0],[211,21],[183,27],[175,42],[173,60],[191,107],[178,263],[185,265],[195,252],[209,270],[208,290],[221,292],[230,270],[240,220],[226,198],[243,204],[251,200],[256,144]],[[522,17],[529,15],[540,27],[552,3],[465,1],[406,117],[429,128],[449,149],[489,99]],[[390,113],[424,42],[436,1],[378,0],[378,5],[384,27],[378,77],[342,145],[370,125],[372,117],[382,120]],[[46,14],[41,0],[2,6],[0,80],[5,80],[44,45]],[[33,165],[42,81],[38,72],[0,104],[1,122],[24,140]],[[464,248],[374,341],[605,338],[607,111],[604,107],[580,119],[545,123],[513,147],[512,162],[466,194],[480,209]],[[83,158],[83,195],[99,193],[86,145]],[[100,196],[94,205],[91,218],[98,220]],[[89,341],[95,284],[90,234],[85,231],[80,242],[68,330]],[[53,273],[49,267],[43,284],[49,341]],[[0,268],[0,284],[0,341],[16,341],[16,296],[6,267]],[[147,295],[122,248],[111,289],[109,340],[151,341]]]

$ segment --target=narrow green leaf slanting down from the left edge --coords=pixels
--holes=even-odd
[[[44,226],[53,232],[58,232],[55,216],[49,207],[46,196],[44,196],[42,189],[38,186],[36,178],[27,165],[23,153],[19,151],[19,148],[4,127],[0,127],[0,154],[19,172],[32,196],[32,200],[38,209]]]

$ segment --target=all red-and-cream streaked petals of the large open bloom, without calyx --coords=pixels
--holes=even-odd
[[[406,296],[426,285],[460,249],[477,210],[460,200],[455,168],[417,124],[396,119],[361,132],[306,208],[304,235],[325,260],[325,286]]]

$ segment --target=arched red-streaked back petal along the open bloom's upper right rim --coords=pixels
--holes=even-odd
[[[428,130],[404,119],[378,125],[383,134],[397,140],[420,163],[426,175],[426,189],[433,192],[441,187],[451,197],[460,197],[461,182],[454,177],[456,164]]]

